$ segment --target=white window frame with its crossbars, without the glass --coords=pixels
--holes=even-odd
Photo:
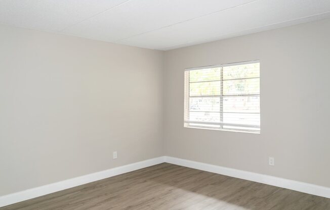
[[[255,64],[259,63],[259,60],[254,60],[254,61],[245,61],[245,62],[237,62],[237,63],[228,63],[228,64],[221,64],[221,65],[213,65],[213,66],[202,66],[202,67],[194,67],[194,68],[187,68],[184,71],[184,127],[185,128],[201,128],[201,129],[209,129],[209,130],[219,130],[219,131],[234,131],[234,132],[247,132],[247,133],[257,133],[260,134],[261,132],[261,123],[260,125],[246,125],[246,124],[231,124],[231,123],[221,123],[223,122],[223,97],[228,97],[228,96],[239,96],[239,95],[223,95],[223,67],[227,66],[236,66],[236,65],[244,65],[244,64]],[[192,71],[192,70],[202,70],[202,69],[211,69],[211,68],[221,68],[221,95],[217,96],[189,96],[189,76],[186,77],[186,72],[187,71]],[[255,77],[260,79],[260,68],[259,68],[259,77]],[[251,79],[251,78],[249,78]],[[226,79],[226,80],[238,80],[238,79]],[[260,90],[260,87],[259,87]],[[261,91],[259,94],[243,94],[242,96],[259,96],[261,98]],[[185,119],[189,119],[189,98],[190,97],[220,97],[220,123],[218,122],[200,122],[200,121],[189,121]],[[259,104],[260,106],[260,104]],[[259,113],[261,116],[261,108],[259,110]],[[207,126],[196,126],[196,125],[189,125],[190,123],[192,124],[205,124],[205,125],[219,125],[220,128],[212,128],[212,127],[207,127]],[[237,127],[246,127],[246,128],[259,128],[260,130],[254,131],[254,130],[244,130],[244,129],[228,129],[228,128],[223,128],[223,126],[237,126]]]

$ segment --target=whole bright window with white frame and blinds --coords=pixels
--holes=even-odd
[[[185,70],[184,127],[260,133],[259,61]]]

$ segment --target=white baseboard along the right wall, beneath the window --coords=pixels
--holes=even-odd
[[[278,177],[273,177],[264,174],[257,174],[253,172],[241,171],[237,169],[231,169],[221,166],[215,166],[211,164],[204,164],[195,161],[189,161],[179,158],[172,158],[165,156],[165,162],[170,164],[175,164],[179,166],[185,166],[188,168],[199,169],[202,171],[208,171],[216,174],[222,174],[230,177],[235,177],[239,179],[245,179],[249,181],[259,182],[263,184],[273,185],[276,187],[282,187],[286,189],[291,189],[299,192],[304,192],[312,195],[322,196],[330,198],[330,188],[318,186],[314,184],[308,184],[305,182],[298,182],[290,179],[283,179]]]

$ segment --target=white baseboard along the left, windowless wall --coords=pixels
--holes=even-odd
[[[164,163],[164,156],[0,196],[0,207]]]

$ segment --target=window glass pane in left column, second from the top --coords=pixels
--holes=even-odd
[[[189,91],[190,96],[220,95],[221,81],[190,83]]]

